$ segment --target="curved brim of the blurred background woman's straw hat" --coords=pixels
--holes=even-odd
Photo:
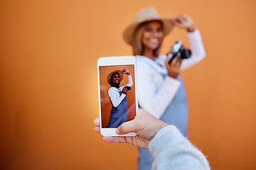
[[[132,45],[132,38],[134,35],[135,30],[139,25],[142,23],[146,23],[149,21],[161,21],[163,23],[163,30],[164,30],[164,36],[169,34],[171,30],[174,28],[174,24],[171,22],[171,18],[151,18],[144,21],[140,21],[137,23],[132,23],[124,30],[123,38],[124,41],[127,42],[127,44]]]

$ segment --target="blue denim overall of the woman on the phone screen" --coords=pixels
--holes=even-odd
[[[118,91],[118,93],[119,93],[119,96],[121,96],[122,91]],[[122,102],[119,103],[117,107],[114,107],[112,104],[110,121],[107,125],[107,128],[117,128],[119,125],[122,125],[122,123],[124,122],[127,122],[127,96],[124,97]]]

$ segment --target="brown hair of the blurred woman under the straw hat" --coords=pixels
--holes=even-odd
[[[148,22],[151,22],[151,21],[148,21]],[[146,23],[148,22],[142,23],[134,31],[134,35],[132,38],[132,50],[134,55],[143,55],[144,53],[142,37],[143,37],[144,30],[146,29]],[[159,21],[159,23],[161,23],[161,21]],[[161,28],[164,29],[163,23],[161,23]],[[159,47],[157,47],[156,50],[154,50],[155,57],[159,55],[160,48],[161,48],[161,44],[159,45]]]

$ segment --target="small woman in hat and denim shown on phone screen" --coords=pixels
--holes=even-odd
[[[127,74],[129,83],[120,87],[123,74]],[[128,69],[116,70],[108,74],[107,83],[111,86],[108,94],[112,104],[110,121],[107,128],[117,128],[127,121],[127,86],[132,86],[132,76]]]

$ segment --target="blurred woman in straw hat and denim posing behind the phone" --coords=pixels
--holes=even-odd
[[[164,37],[174,26],[187,30],[192,55],[181,61],[170,56],[159,55]],[[125,42],[132,45],[137,57],[139,106],[156,118],[170,125],[176,125],[187,136],[188,106],[186,91],[179,75],[200,62],[206,53],[201,35],[187,15],[176,18],[162,18],[153,7],[143,8],[123,34]],[[139,148],[139,169],[151,169],[151,156],[146,149]]]

